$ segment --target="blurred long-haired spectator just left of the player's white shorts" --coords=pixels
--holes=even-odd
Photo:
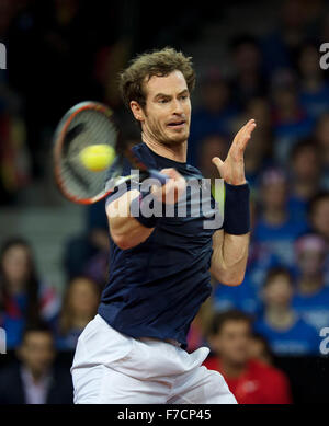
[[[66,289],[56,333],[58,350],[75,350],[78,337],[97,314],[100,288],[88,277],[73,278]]]

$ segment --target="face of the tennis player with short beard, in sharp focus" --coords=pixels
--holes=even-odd
[[[132,101],[131,107],[141,123],[143,133],[168,146],[185,142],[190,134],[191,100],[181,71],[166,77],[152,76],[144,84],[146,106]]]

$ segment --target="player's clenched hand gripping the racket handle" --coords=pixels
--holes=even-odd
[[[158,202],[175,204],[185,193],[186,181],[175,169],[162,169],[160,173],[167,174],[170,179],[163,186],[154,185],[151,193]]]

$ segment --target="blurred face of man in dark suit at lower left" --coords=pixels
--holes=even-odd
[[[53,337],[45,332],[30,332],[20,348],[20,357],[25,366],[36,375],[44,373],[55,357]]]

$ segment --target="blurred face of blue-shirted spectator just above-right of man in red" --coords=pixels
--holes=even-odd
[[[264,301],[271,307],[287,307],[293,297],[293,287],[288,277],[277,275],[271,279],[263,290]]]

